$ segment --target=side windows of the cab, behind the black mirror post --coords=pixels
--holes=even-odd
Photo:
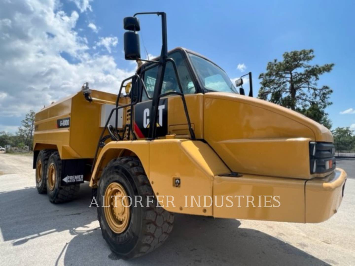
[[[179,73],[180,82],[182,86],[182,90],[184,94],[193,94],[196,93],[195,85],[192,81],[190,72],[187,68],[186,59],[181,54],[181,52],[176,51],[169,55],[172,59],[174,59],[176,63],[176,68]],[[149,65],[148,65],[149,66]],[[144,84],[146,85],[147,92],[149,97],[153,97],[155,82],[157,81],[158,74],[158,66],[153,67],[150,70],[147,70],[144,73]],[[165,67],[163,86],[162,86],[162,94],[167,92],[180,92],[178,80],[175,76],[173,63],[167,62]],[[142,93],[142,101],[149,100],[146,93],[143,91]]]

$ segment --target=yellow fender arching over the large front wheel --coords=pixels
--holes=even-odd
[[[130,155],[141,160],[154,194],[165,210],[213,215],[212,203],[206,207],[203,196],[212,200],[215,176],[229,174],[230,170],[208,144],[188,139],[110,142],[98,156],[90,186],[97,186],[100,172],[110,160]],[[169,204],[172,199],[174,204],[171,201]]]

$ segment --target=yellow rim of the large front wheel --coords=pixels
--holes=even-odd
[[[110,206],[104,207],[105,218],[109,227],[117,234],[124,232],[128,227],[131,216],[130,207],[126,207],[130,205],[126,190],[119,183],[111,183],[105,191],[104,199],[104,206]]]

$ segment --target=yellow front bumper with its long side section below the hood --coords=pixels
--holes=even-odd
[[[213,216],[279,222],[318,223],[334,215],[342,201],[346,173],[340,168],[311,180],[242,174],[215,176],[214,200],[234,199],[232,206],[213,206]],[[236,197],[240,196],[240,200]],[[248,199],[254,199],[252,205]],[[276,201],[277,199],[278,201]],[[270,202],[271,200],[271,202]]]

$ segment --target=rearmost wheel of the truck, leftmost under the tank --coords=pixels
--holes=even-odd
[[[41,150],[36,161],[36,188],[38,193],[47,193],[47,166],[51,150]]]

